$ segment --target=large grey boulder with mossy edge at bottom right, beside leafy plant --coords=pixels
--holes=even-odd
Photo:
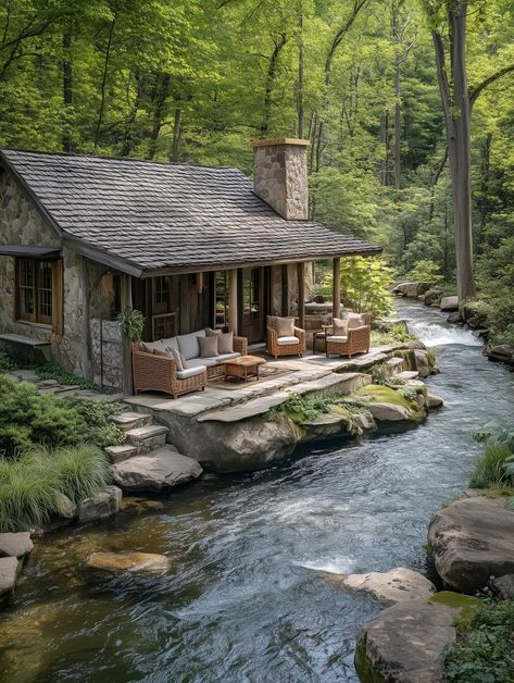
[[[460,611],[414,599],[388,607],[362,630],[355,669],[362,683],[443,681],[444,648]]]

